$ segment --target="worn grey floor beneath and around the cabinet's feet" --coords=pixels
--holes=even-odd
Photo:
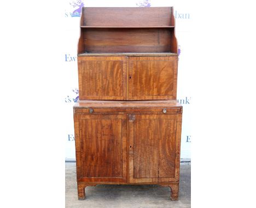
[[[190,163],[181,163],[179,200],[171,201],[170,188],[158,185],[97,185],[85,188],[85,200],[77,198],[75,163],[66,162],[66,208],[190,207]]]

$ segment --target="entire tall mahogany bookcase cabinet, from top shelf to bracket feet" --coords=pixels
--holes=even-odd
[[[182,106],[172,7],[83,8],[74,106],[78,198],[159,184],[178,200]]]

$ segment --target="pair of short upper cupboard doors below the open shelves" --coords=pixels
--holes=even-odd
[[[122,55],[78,57],[80,100],[176,99],[177,56]]]

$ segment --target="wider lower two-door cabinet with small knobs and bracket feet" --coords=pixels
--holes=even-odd
[[[81,101],[74,106],[78,198],[97,184],[159,184],[178,199],[182,106]]]

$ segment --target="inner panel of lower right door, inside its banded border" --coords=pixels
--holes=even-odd
[[[134,178],[173,178],[176,119],[137,115],[134,133]]]

